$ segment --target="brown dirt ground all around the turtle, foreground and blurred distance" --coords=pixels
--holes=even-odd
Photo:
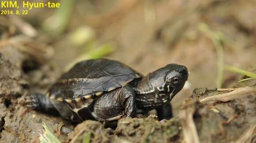
[[[68,27],[60,36],[51,36],[39,28],[46,15],[54,11],[34,11],[20,17],[37,30],[34,37],[24,33],[12,17],[0,17],[0,142],[38,143],[39,133],[44,131],[42,122],[55,134],[61,127],[58,137],[63,142],[81,142],[88,132],[95,143],[182,142],[196,139],[192,135],[198,135],[201,142],[242,142],[250,137],[249,141],[253,142],[255,80],[236,84],[246,77],[225,71],[222,88],[254,89],[226,102],[200,102],[205,97],[231,92],[215,89],[217,54],[211,38],[200,30],[200,25],[204,23],[212,31],[225,35],[222,37],[225,64],[255,72],[255,0],[124,0],[100,4],[95,1],[90,6],[78,0],[74,7]],[[89,26],[93,34],[81,46],[70,37],[84,26]],[[174,114],[179,116],[161,122],[153,115],[124,118],[113,131],[104,129],[101,122],[73,125],[22,105],[23,98],[30,93],[45,93],[85,50],[105,43],[111,43],[114,49],[105,57],[121,61],[143,75],[169,63],[187,66],[188,84],[171,101]],[[189,99],[184,101],[186,98]],[[195,125],[196,132],[191,125]],[[188,129],[193,131],[191,136],[186,132]],[[251,134],[250,129],[254,131]]]

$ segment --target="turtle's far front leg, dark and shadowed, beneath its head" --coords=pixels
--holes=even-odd
[[[169,102],[162,105],[160,108],[157,108],[156,111],[159,121],[162,119],[169,120],[173,117],[172,106]]]

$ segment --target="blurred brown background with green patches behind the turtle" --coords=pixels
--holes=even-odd
[[[229,88],[241,79],[230,72],[234,67],[256,68],[256,0],[51,2],[60,2],[60,8],[0,16],[0,52],[11,61],[26,53],[30,60],[19,66],[34,77],[34,85],[49,87],[76,62],[97,57],[123,62],[143,75],[169,63],[183,64],[190,75],[171,101],[177,114],[193,89]]]

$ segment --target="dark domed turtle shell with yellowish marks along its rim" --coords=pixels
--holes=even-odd
[[[46,93],[77,110],[87,107],[105,92],[125,86],[141,75],[132,68],[105,58],[82,61],[65,73]]]

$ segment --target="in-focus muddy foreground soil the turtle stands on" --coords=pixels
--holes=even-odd
[[[23,98],[34,91],[33,83],[37,80],[54,81],[53,69],[34,70],[27,74],[23,66],[13,64],[2,51],[1,68],[1,103],[0,131],[1,142],[39,142],[40,133],[44,132],[42,122],[57,134],[63,142],[79,143],[87,133],[91,134],[92,143],[106,142],[152,142],[169,143],[198,139],[201,142],[226,143],[249,140],[254,142],[256,132],[256,82],[245,81],[242,93],[233,93],[233,89],[194,89],[192,96],[186,99],[179,115],[171,120],[158,121],[157,116],[147,118],[124,118],[117,122],[117,128],[105,129],[97,121],[85,121],[79,125],[46,114],[30,111],[23,104]],[[16,51],[19,53],[19,51]],[[19,53],[22,55],[22,53]],[[22,62],[22,59],[20,59]],[[26,58],[23,59],[26,61]],[[30,76],[28,76],[30,75]],[[37,78],[33,77],[36,76]],[[43,76],[44,75],[44,76]],[[32,78],[32,79],[30,79]],[[51,79],[53,78],[53,79]],[[39,81],[38,81],[39,82]],[[8,84],[6,84],[8,83]],[[53,82],[52,82],[53,83]],[[247,86],[245,86],[247,85]],[[239,86],[239,85],[237,85]],[[249,87],[250,86],[250,87]],[[43,85],[37,87],[43,91]],[[48,86],[45,86],[47,89]],[[3,90],[4,89],[4,90]],[[210,100],[200,102],[207,97],[232,93],[228,100]],[[190,118],[191,117],[191,118]],[[195,126],[193,130],[192,126]],[[187,131],[189,130],[189,132]],[[250,132],[250,130],[252,130]],[[192,134],[191,132],[194,132]],[[195,136],[192,136],[195,135]],[[245,138],[245,139],[244,139]]]

